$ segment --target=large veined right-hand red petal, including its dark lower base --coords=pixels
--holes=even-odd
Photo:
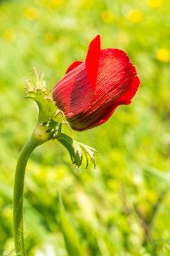
[[[71,127],[83,131],[103,124],[120,104],[130,104],[139,87],[136,68],[125,52],[101,51],[94,100],[89,108],[69,120]]]

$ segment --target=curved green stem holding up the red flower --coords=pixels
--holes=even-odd
[[[26,256],[23,231],[23,195],[25,168],[31,152],[45,141],[50,140],[51,134],[45,133],[46,128],[37,125],[31,138],[25,143],[18,157],[15,171],[15,183],[13,192],[13,230],[15,240],[15,252]]]

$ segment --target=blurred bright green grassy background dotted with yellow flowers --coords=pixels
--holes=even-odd
[[[170,2],[168,0],[0,1],[0,255],[13,250],[12,194],[18,154],[37,113],[23,77],[45,72],[48,88],[89,42],[129,54],[141,86],[106,124],[72,137],[97,149],[97,167],[74,169],[50,141],[32,153],[25,176],[28,255],[66,256],[57,191],[84,255],[170,255]],[[76,255],[75,255],[76,256]]]

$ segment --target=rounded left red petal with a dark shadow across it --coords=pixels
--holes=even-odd
[[[85,69],[85,62],[67,73],[52,90],[53,100],[66,117],[71,118],[87,109],[94,97]]]

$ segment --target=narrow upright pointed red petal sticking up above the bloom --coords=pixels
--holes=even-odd
[[[90,42],[87,57],[85,60],[87,76],[94,90],[96,88],[97,70],[99,67],[99,58],[101,51],[101,39],[97,35],[92,42]]]

